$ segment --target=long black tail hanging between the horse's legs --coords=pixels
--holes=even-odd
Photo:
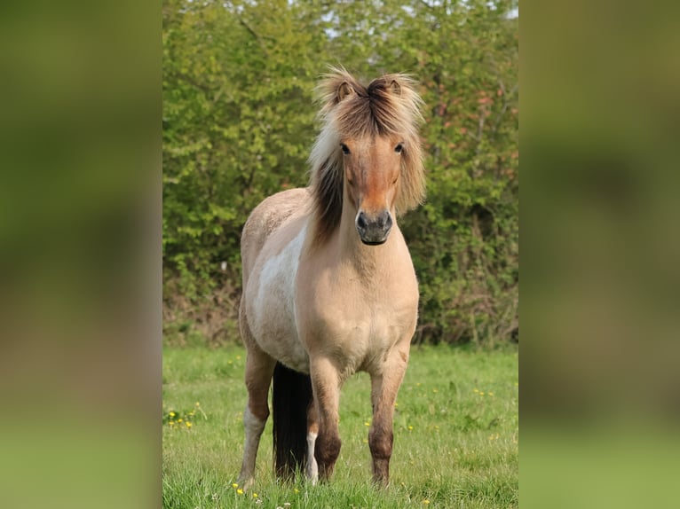
[[[274,470],[291,479],[307,458],[307,407],[312,401],[312,379],[276,363],[273,376],[272,419]]]

